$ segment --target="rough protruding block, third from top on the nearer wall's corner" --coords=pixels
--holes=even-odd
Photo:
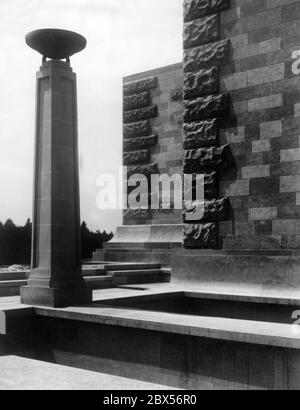
[[[217,43],[184,50],[184,72],[197,72],[203,68],[220,66],[228,59],[229,45],[229,40],[222,40]]]

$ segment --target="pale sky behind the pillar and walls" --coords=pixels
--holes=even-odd
[[[100,211],[97,177],[122,164],[122,78],[182,60],[182,0],[0,0],[0,221],[32,215],[35,73],[25,34],[62,28],[87,38],[71,58],[78,79],[81,219],[114,231]]]

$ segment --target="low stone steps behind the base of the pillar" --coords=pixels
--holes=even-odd
[[[170,282],[171,278],[171,269],[158,263],[90,262],[83,265],[82,270],[87,286],[94,290]],[[29,271],[0,272],[0,297],[20,295],[20,288],[27,285],[29,274]]]

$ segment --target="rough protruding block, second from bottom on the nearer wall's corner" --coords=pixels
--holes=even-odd
[[[211,201],[185,201],[184,220],[186,223],[207,223],[227,221],[229,217],[229,199]]]

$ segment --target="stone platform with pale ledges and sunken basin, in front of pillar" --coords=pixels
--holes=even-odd
[[[291,325],[299,291],[223,285],[125,285],[94,291],[90,306],[65,309],[21,307],[18,298],[3,298],[1,337],[9,337],[18,320],[31,317],[35,338],[30,346],[36,350],[27,354],[32,358],[36,354],[40,360],[150,383],[160,380],[174,388],[299,389],[300,335]],[[134,307],[141,297],[159,305],[183,294],[237,304],[235,317]],[[246,320],[237,316],[245,306],[289,313],[285,320]]]

